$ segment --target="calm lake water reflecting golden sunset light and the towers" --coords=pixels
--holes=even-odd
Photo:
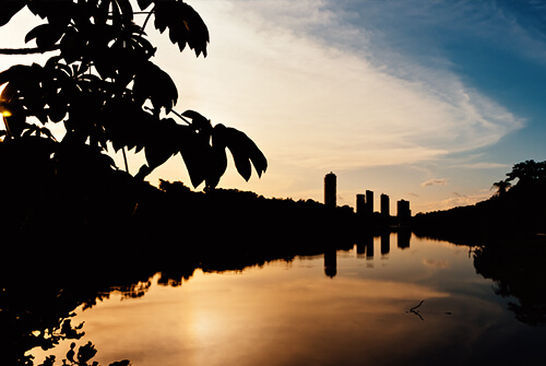
[[[76,309],[78,344],[93,342],[100,365],[546,364],[546,328],[515,319],[517,299],[476,274],[467,247],[388,238],[366,253],[198,270],[176,286],[156,275],[141,297],[114,292]],[[69,345],[35,351],[36,364],[52,353],[60,364]]]

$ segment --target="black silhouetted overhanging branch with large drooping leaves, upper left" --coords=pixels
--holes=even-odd
[[[78,155],[84,144],[100,153],[109,143],[123,154],[144,150],[147,164],[138,178],[180,153],[192,185],[204,181],[209,188],[216,187],[226,169],[227,147],[246,180],[252,165],[261,176],[268,162],[244,132],[223,125],[213,127],[193,110],[181,115],[173,110],[177,87],[152,61],[155,47],[144,32],[152,16],[154,26],[161,33],[168,29],[170,42],[180,51],[189,47],[195,56],[206,57],[209,31],[201,16],[179,0],[136,3],[146,14],[142,25],[134,22],[129,0],[2,3],[0,26],[27,8],[46,23],[31,29],[25,43],[35,42],[40,52],[58,51],[44,66],[17,64],[0,73],[0,85],[5,84],[0,96],[4,142],[39,137],[52,146],[54,162],[59,150],[73,150],[71,154]],[[182,125],[167,118],[169,114]],[[59,122],[66,128],[61,141],[48,129]],[[3,150],[11,153],[8,146]]]

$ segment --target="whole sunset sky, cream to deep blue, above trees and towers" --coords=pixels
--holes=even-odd
[[[269,161],[248,182],[232,163],[219,187],[322,202],[333,172],[339,205],[372,190],[376,208],[385,193],[391,212],[405,199],[417,213],[485,200],[514,164],[546,160],[542,1],[188,3],[209,26],[206,58],[146,27],[175,110],[242,130]],[[17,14],[2,47],[21,46],[29,20]],[[131,173],[143,162],[130,153]],[[180,156],[159,178],[190,186]]]

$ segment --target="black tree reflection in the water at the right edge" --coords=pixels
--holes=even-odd
[[[497,283],[495,293],[518,302],[509,309],[524,323],[546,323],[546,240],[495,243],[474,256],[476,272]]]

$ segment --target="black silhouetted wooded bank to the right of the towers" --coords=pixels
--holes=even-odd
[[[415,215],[414,232],[464,244],[546,234],[546,162],[515,164],[494,187],[495,196],[474,205]]]

